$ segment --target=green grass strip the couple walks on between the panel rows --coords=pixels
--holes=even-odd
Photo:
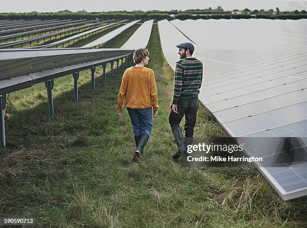
[[[118,37],[117,44],[127,38]],[[131,162],[128,113],[116,114],[120,74],[110,78],[108,69],[107,80],[97,77],[92,91],[89,70],[81,72],[77,102],[72,76],[56,79],[54,117],[47,115],[44,84],[10,94],[0,217],[35,217],[37,227],[306,226],[307,197],[283,201],[256,168],[188,168],[172,159],[173,70],[157,24],[147,48],[160,109],[137,164]],[[200,107],[195,136],[226,133]]]

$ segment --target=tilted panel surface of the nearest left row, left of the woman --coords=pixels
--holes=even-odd
[[[33,73],[43,75],[46,70],[73,66],[78,63],[104,60],[131,53],[116,48],[105,49],[4,49],[0,50],[0,93],[18,76],[33,79]],[[56,71],[56,70],[55,70]],[[65,71],[65,69],[64,69]],[[5,80],[6,79],[6,80]]]

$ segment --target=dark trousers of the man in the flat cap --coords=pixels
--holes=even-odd
[[[169,123],[172,131],[179,128],[180,122],[182,118],[185,116],[186,117],[185,137],[193,137],[198,105],[199,105],[198,97],[193,97],[190,99],[179,99],[177,103],[178,113],[172,111],[172,105],[171,105]]]

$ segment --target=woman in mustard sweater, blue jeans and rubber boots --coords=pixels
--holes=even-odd
[[[117,114],[122,117],[122,105],[125,98],[134,133],[136,150],[132,161],[136,162],[143,152],[151,129],[152,117],[158,116],[158,95],[154,71],[146,68],[149,61],[147,49],[139,48],[133,53],[135,66],[127,68],[122,76],[122,81],[117,97]],[[154,116],[152,116],[152,108]]]

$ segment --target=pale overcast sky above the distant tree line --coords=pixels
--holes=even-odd
[[[87,12],[101,11],[133,11],[133,10],[187,10],[187,9],[212,9],[221,6],[224,10],[268,10],[279,7],[280,11],[307,10],[306,1],[285,1],[285,0],[155,0],[155,1],[136,1],[136,0],[18,0],[2,1],[0,12],[57,12],[70,10],[73,12],[86,10]]]

